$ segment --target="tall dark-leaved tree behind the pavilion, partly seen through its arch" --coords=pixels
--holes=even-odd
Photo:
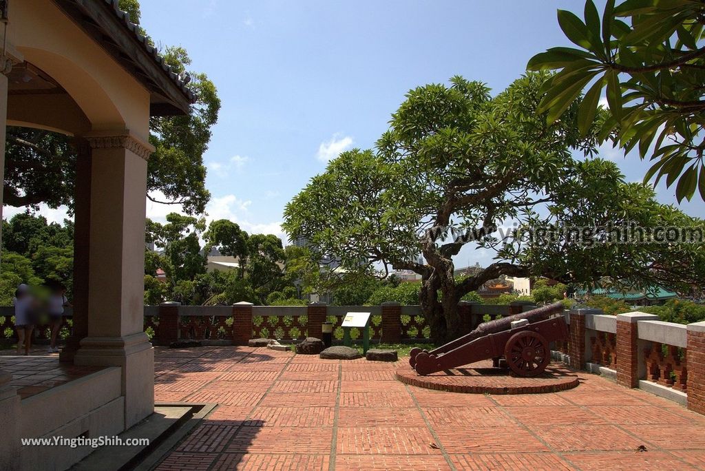
[[[120,6],[128,11],[133,23],[140,23],[137,0],[121,0]],[[161,53],[176,73],[185,72],[191,64],[183,47],[166,47]],[[188,86],[198,97],[190,112],[185,116],[154,117],[150,121],[149,142],[157,150],[149,157],[147,197],[167,204],[181,204],[188,214],[200,214],[210,197],[204,183],[203,154],[221,104],[216,87],[207,75],[192,71],[189,75]],[[72,207],[75,159],[75,150],[66,135],[9,127],[4,204]]]

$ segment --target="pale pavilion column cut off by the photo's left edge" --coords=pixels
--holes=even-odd
[[[2,192],[5,181],[5,137],[7,126],[7,73],[13,62],[0,57],[0,221],[2,220]],[[2,224],[0,224],[2,226]],[[0,240],[2,238],[0,227]],[[12,374],[0,369],[0,470],[16,470],[20,466],[20,396],[10,386]]]

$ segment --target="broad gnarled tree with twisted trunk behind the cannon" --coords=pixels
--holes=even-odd
[[[484,84],[459,77],[450,86],[411,90],[376,150],[353,149],[331,161],[287,205],[283,227],[291,238],[309,240],[317,255],[339,257],[347,271],[391,266],[420,274],[419,301],[436,341],[460,332],[462,296],[503,274],[673,284],[680,279],[666,268],[675,266],[688,275],[683,281],[697,282],[694,266],[669,258],[676,250],[703,258],[696,247],[588,248],[560,233],[548,243],[492,235],[505,221],[592,228],[687,219],[656,203],[650,190],[624,183],[613,163],[589,158],[596,125],[586,136],[578,131],[580,99],[560,121],[546,121],[537,111],[546,78],[526,75],[495,97]],[[587,157],[574,159],[575,150]],[[495,261],[455,280],[453,257],[468,243],[494,253]],[[415,261],[419,253],[425,263]]]

